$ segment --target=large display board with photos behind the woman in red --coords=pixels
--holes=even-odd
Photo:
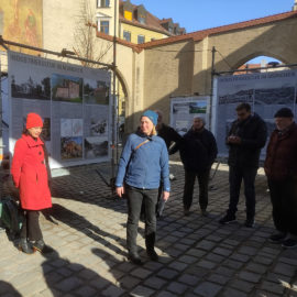
[[[110,158],[110,73],[8,52],[9,152],[25,117],[38,113],[51,168]]]

